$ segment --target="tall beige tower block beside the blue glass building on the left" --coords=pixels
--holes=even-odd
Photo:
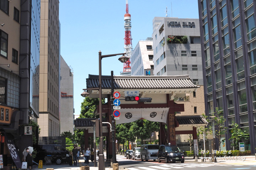
[[[40,136],[60,135],[59,115],[59,1],[41,0]]]

